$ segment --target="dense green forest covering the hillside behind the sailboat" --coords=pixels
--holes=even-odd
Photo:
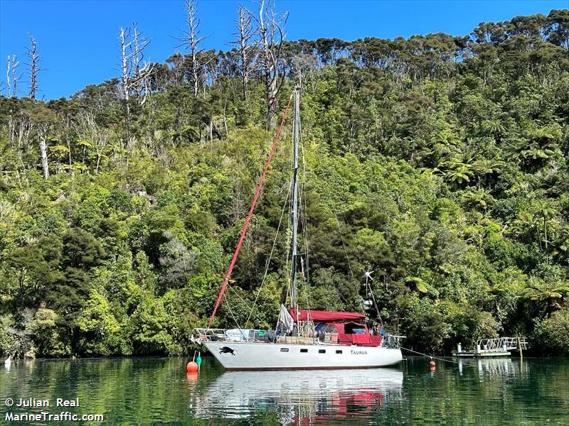
[[[0,97],[0,352],[192,349],[300,84],[301,303],[360,311],[369,270],[404,346],[519,335],[569,354],[569,10],[355,41],[282,41],[241,12],[242,41],[267,43],[188,40],[69,99]],[[215,326],[244,325],[256,300],[252,325],[275,327],[282,229],[263,276],[291,132],[289,118]]]

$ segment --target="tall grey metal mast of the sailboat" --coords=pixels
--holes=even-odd
[[[300,87],[294,88],[294,121],[292,125],[292,291],[290,306],[298,309],[297,296],[297,230],[298,230],[298,143],[300,138]],[[294,318],[297,321],[297,318]]]

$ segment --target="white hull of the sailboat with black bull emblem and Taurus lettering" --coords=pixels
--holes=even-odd
[[[391,366],[403,359],[399,348],[381,346],[259,342],[203,344],[227,370],[376,368]]]

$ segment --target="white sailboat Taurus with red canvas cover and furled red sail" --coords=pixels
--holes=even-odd
[[[301,310],[297,296],[297,230],[299,222],[299,136],[300,136],[300,89],[294,90],[294,124],[292,149],[292,224],[291,244],[291,291],[289,308],[281,306],[275,332],[258,329],[213,329],[213,317],[227,288],[240,246],[250,221],[255,202],[260,195],[272,153],[285,122],[287,105],[282,122],[275,136],[265,169],[253,197],[252,205],[237,249],[233,253],[228,273],[221,287],[207,328],[195,329],[193,342],[203,344],[218,359],[225,369],[233,370],[286,370],[321,368],[376,368],[397,364],[403,356],[399,347],[400,336],[370,330],[366,315],[360,312],[330,312]],[[375,334],[373,333],[375,331]]]

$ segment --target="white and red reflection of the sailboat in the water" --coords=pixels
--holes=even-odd
[[[202,418],[275,413],[282,424],[310,424],[369,414],[400,398],[403,373],[389,368],[314,371],[228,371],[197,404]]]

